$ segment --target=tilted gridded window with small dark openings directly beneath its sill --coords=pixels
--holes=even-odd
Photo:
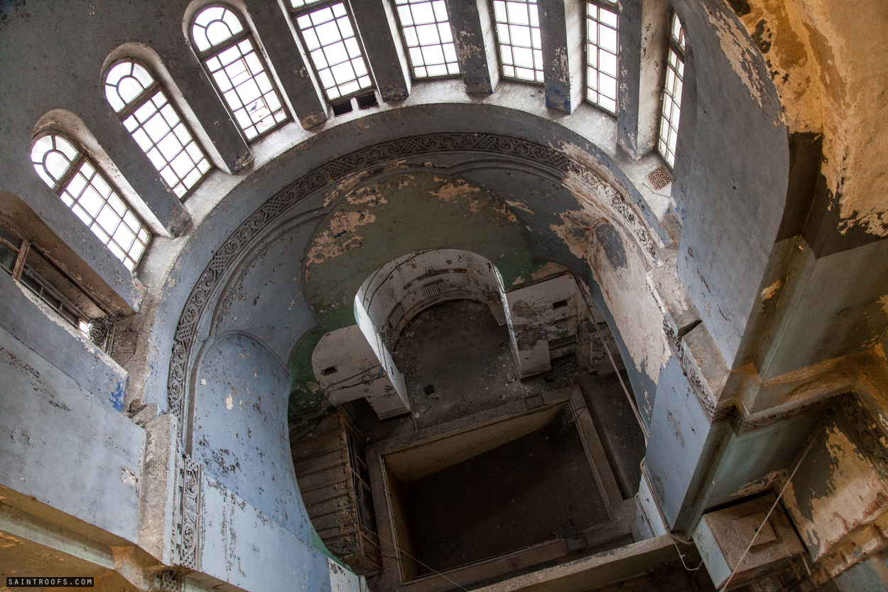
[[[312,6],[294,11],[293,16],[327,100],[351,97],[373,86],[345,4],[336,2],[316,9]]]

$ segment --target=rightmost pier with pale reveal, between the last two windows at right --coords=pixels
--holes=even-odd
[[[669,38],[669,0],[627,0],[619,24],[617,142],[633,158],[657,147]]]

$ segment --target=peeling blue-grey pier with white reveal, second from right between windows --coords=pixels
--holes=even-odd
[[[585,4],[539,0],[546,107],[572,113],[583,102]]]

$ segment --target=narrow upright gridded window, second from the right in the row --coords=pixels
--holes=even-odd
[[[616,113],[616,7],[586,4],[586,99]]]

